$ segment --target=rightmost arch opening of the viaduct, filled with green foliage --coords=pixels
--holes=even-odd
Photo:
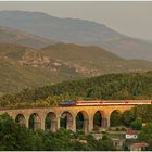
[[[122,125],[122,113],[117,110],[113,111],[110,116],[110,126],[116,127]]]

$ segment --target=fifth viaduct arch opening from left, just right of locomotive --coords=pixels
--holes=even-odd
[[[76,116],[76,130],[88,132],[89,116],[85,111],[80,111]]]

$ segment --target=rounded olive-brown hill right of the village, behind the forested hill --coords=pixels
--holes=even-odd
[[[106,73],[137,72],[152,69],[151,62],[142,60],[124,60],[117,55],[93,46],[56,43],[43,48],[43,55],[68,62],[86,75],[97,76]]]

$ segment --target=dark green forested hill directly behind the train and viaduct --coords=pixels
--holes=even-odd
[[[3,96],[0,104],[5,107],[50,106],[68,99],[152,99],[152,72],[109,74],[25,89],[14,96]]]

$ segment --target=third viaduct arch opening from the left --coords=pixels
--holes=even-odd
[[[56,131],[56,127],[58,119],[55,113],[53,112],[48,113],[45,118],[45,130]]]

